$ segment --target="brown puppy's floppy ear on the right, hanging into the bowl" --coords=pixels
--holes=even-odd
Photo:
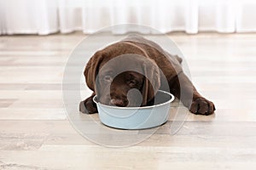
[[[148,59],[143,63],[143,105],[147,105],[148,101],[154,98],[160,88],[160,71],[158,65],[153,60]]]

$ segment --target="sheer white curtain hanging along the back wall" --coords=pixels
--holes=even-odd
[[[255,10],[254,0],[0,0],[0,34],[93,33],[127,23],[163,33],[252,32]]]

